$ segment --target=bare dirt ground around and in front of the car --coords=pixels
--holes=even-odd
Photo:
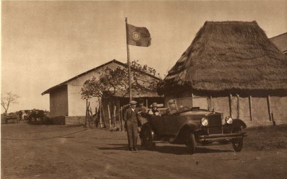
[[[138,143],[140,144],[140,143]],[[127,151],[126,132],[65,125],[1,125],[1,179],[286,179],[287,126],[248,129],[232,145],[157,144]]]

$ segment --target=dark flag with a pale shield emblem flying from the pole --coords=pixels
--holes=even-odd
[[[146,27],[136,27],[127,24],[127,44],[136,46],[150,46],[151,37]]]

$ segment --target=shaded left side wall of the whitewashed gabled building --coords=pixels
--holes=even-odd
[[[50,92],[50,117],[68,115],[67,86],[57,88]]]

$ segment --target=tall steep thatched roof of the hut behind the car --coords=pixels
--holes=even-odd
[[[256,21],[206,21],[158,92],[183,87],[205,93],[286,90],[287,59]]]

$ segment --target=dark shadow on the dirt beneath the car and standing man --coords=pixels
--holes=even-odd
[[[128,145],[127,144],[108,144],[113,147],[99,147],[99,150],[119,150],[119,151],[127,151]],[[114,147],[116,146],[116,147]],[[144,147],[139,147],[139,151],[147,151]],[[165,154],[176,154],[176,155],[187,155],[188,150],[186,146],[156,146],[153,152],[165,153]],[[199,147],[196,149],[196,153],[224,153],[224,152],[233,152],[231,150],[215,150],[209,148]]]

